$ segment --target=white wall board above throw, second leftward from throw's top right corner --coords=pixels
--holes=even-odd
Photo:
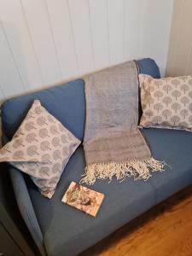
[[[116,64],[124,60],[124,9],[124,0],[108,0],[108,32],[111,64]]]

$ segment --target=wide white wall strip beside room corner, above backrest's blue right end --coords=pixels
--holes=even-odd
[[[143,0],[141,54],[156,60],[162,75],[165,73],[168,52],[172,5],[172,0]]]

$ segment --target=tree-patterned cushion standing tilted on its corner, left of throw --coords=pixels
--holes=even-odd
[[[1,148],[0,162],[9,161],[29,174],[41,193],[51,198],[79,144],[79,139],[35,100],[12,141]]]

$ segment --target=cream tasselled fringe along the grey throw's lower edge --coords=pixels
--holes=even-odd
[[[96,182],[96,178],[108,178],[110,183],[113,176],[116,176],[120,182],[124,181],[125,177],[134,177],[135,180],[143,178],[146,181],[151,177],[150,172],[163,172],[165,165],[164,161],[155,160],[153,157],[146,160],[130,160],[123,163],[91,164],[85,167],[84,177],[80,180],[80,183],[93,185]]]

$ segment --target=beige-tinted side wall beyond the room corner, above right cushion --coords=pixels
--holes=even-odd
[[[174,0],[166,74],[192,74],[192,1]]]

